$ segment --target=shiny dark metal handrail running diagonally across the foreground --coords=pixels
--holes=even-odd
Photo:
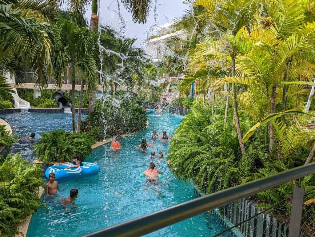
[[[180,222],[187,218],[199,215],[206,211],[224,206],[233,201],[249,197],[267,189],[302,178],[315,172],[315,163],[299,166],[278,174],[257,179],[232,188],[224,189],[203,197],[196,198],[169,208],[138,217],[94,233],[91,236],[141,236],[158,229]]]

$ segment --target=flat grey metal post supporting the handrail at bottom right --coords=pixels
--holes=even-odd
[[[294,186],[290,215],[289,237],[300,237],[305,189]]]

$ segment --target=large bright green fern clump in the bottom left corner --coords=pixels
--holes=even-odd
[[[20,154],[9,154],[0,162],[0,233],[20,234],[16,226],[23,218],[39,210],[40,187],[44,187],[42,169],[24,160]]]

